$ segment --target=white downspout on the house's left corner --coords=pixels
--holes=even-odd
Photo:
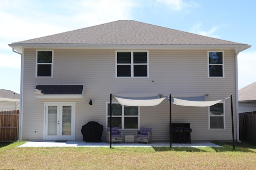
[[[20,118],[19,118],[19,135],[18,135],[18,141],[22,140],[22,122],[23,122],[23,72],[24,72],[24,56],[22,53],[19,53],[18,51],[15,51],[14,48],[12,48],[12,51],[14,53],[17,53],[21,57],[21,64],[20,64]],[[23,50],[22,50],[23,51]],[[23,51],[24,53],[24,51]]]

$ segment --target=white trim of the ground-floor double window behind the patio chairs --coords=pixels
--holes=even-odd
[[[106,102],[106,129],[108,128],[108,104],[110,104],[110,102]],[[112,102],[112,104],[120,104],[118,102]],[[112,115],[111,117],[121,117],[122,119],[122,128],[120,130],[126,130],[126,131],[134,131],[134,130],[139,130],[140,129],[140,106],[138,107],[138,129],[124,129],[124,117],[137,117],[134,115],[124,115],[124,105],[120,104],[122,106],[122,115]]]

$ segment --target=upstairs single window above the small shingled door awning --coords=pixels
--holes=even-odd
[[[53,50],[36,50],[36,77],[53,77]]]

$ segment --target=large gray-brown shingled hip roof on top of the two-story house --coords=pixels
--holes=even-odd
[[[46,37],[20,41],[28,44],[127,44],[127,45],[245,45],[166,27],[118,20]]]

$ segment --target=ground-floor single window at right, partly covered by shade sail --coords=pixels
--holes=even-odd
[[[225,102],[208,107],[209,129],[225,129]]]

